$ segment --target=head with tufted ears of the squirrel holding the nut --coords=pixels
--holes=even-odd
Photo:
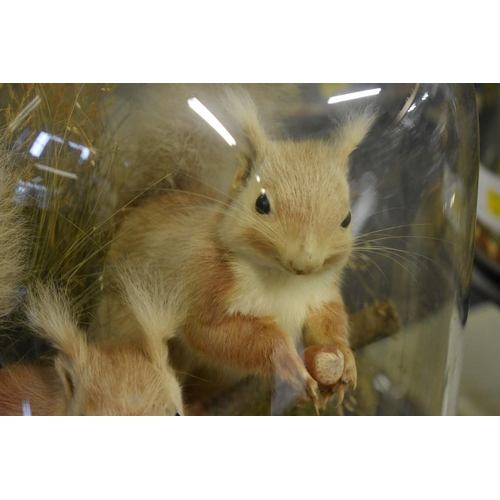
[[[327,140],[275,140],[266,135],[247,94],[231,93],[247,144],[233,180],[220,238],[257,265],[297,275],[344,268],[351,232],[348,163],[374,115],[347,117]]]

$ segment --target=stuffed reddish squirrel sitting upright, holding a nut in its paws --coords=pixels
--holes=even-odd
[[[179,372],[276,376],[315,406],[320,395],[342,399],[357,378],[340,292],[353,243],[348,160],[374,116],[350,115],[327,140],[275,139],[248,92],[223,96],[245,135],[230,195],[167,192],[127,210],[107,269],[126,259],[161,275],[182,317]],[[112,282],[105,274],[93,330],[116,342],[137,326],[128,305],[106,292]],[[309,346],[331,347],[314,355],[340,352],[337,382],[309,373],[301,356]],[[328,363],[321,366],[325,375]]]

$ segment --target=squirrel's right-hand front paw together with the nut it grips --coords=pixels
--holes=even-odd
[[[304,363],[311,376],[318,382],[324,397],[323,405],[334,394],[337,406],[342,404],[344,393],[352,384],[356,388],[357,371],[354,355],[347,346],[313,345],[304,351]]]

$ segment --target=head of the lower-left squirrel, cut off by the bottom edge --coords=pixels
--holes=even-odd
[[[137,343],[89,343],[53,286],[32,288],[27,315],[31,327],[57,349],[54,365],[68,415],[183,414],[165,339],[145,331]]]

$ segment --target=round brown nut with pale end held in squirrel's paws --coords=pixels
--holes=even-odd
[[[304,364],[316,382],[330,387],[344,372],[344,355],[333,346],[313,345],[304,351]]]

